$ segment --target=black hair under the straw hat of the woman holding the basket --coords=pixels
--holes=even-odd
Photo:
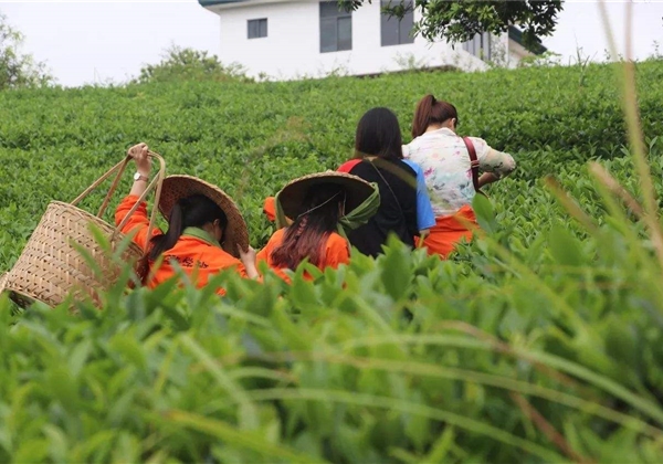
[[[201,228],[219,220],[221,228],[225,230],[228,218],[217,203],[203,194],[193,194],[180,199],[172,207],[170,218],[168,219],[168,231],[162,235],[154,236],[151,250],[148,257],[151,261],[157,260],[161,253],[175,246],[187,228]]]

